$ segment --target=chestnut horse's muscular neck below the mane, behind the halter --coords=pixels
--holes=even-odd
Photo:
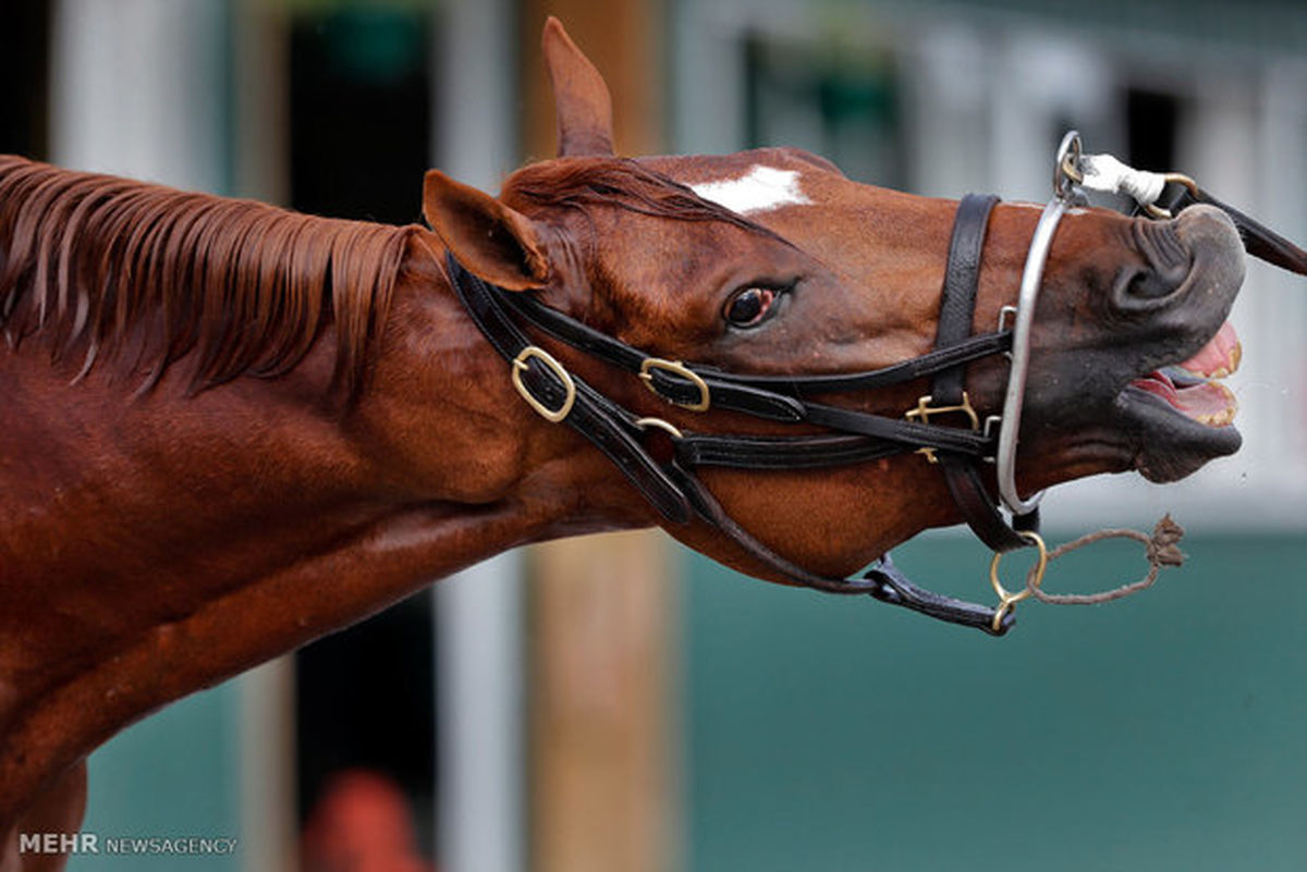
[[[22,458],[0,479],[0,820],[174,698],[512,546],[642,522],[525,410],[426,249],[344,414],[328,339],[195,397],[0,360],[0,459]]]

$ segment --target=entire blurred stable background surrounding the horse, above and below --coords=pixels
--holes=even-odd
[[[1302,0],[3,0],[0,151],[418,221],[427,167],[495,191],[553,153],[549,13],[626,154],[1043,201],[1076,127],[1307,239]],[[1233,320],[1242,453],[1044,503],[1053,540],[1174,513],[1189,561],[1137,598],[997,641],[656,533],[505,555],[91,757],[85,830],[235,854],[71,868],[1307,868],[1307,287],[1249,264]],[[895,556],[987,595],[965,534]],[[1144,569],[1102,547],[1047,586]]]

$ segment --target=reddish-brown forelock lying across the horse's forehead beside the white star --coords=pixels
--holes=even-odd
[[[501,198],[523,208],[562,206],[589,213],[597,206],[617,206],[674,221],[719,221],[789,244],[762,225],[704,200],[689,185],[630,158],[586,157],[535,163],[508,176]]]

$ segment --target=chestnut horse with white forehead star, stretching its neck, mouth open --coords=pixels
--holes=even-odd
[[[864,372],[935,346],[958,204],[788,149],[617,158],[606,87],[553,21],[545,54],[559,157],[499,197],[430,172],[434,232],[0,159],[0,869],[61,864],[20,851],[20,833],[76,832],[84,760],[124,726],[506,548],[663,525],[792,581],[702,517],[669,521],[523,402],[511,376],[527,367],[486,341],[454,266],[669,362]],[[1014,302],[1039,217],[993,209],[972,333]],[[1145,376],[1233,366],[1242,258],[1206,206],[1067,214],[1030,339],[1023,493],[1125,470],[1171,480],[1238,448],[1227,390]],[[657,429],[817,432],[670,406],[532,334]],[[1001,354],[967,367],[980,415],[1002,405],[1006,368]],[[902,419],[928,390],[831,402]],[[821,576],[959,520],[911,449],[702,482]]]

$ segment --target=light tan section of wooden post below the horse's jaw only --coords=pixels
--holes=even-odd
[[[667,869],[667,544],[644,531],[609,534],[533,557],[532,869]]]

